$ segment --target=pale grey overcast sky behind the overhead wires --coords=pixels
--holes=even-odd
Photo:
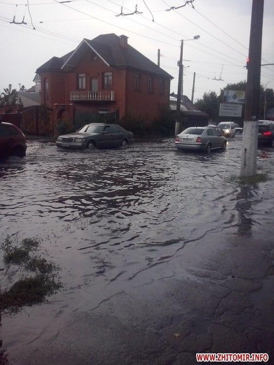
[[[84,37],[92,39],[104,33],[127,35],[128,42],[154,62],[157,62],[157,50],[160,48],[163,55],[161,67],[174,76],[171,91],[175,92],[180,40],[200,35],[199,40],[184,43],[183,58],[190,60],[184,61],[184,65],[189,67],[184,70],[183,93],[188,97],[191,97],[193,72],[196,72],[195,99],[201,97],[204,91],[219,92],[229,82],[246,79],[246,69],[243,66],[248,55],[246,48],[249,44],[252,0],[195,0],[195,10],[185,6],[176,12],[166,12],[168,6],[165,3],[179,6],[184,0],[146,0],[155,23],[151,21],[143,0],[137,1],[142,16],[135,14],[128,17],[115,17],[115,14],[120,13],[122,3],[124,12],[128,12],[126,8],[134,11],[136,0],[74,0],[66,4],[78,11],[56,3],[55,0],[29,0],[36,31],[32,29],[28,10],[23,5],[26,2],[27,0],[0,0],[1,91],[9,83],[14,88],[18,88],[18,83],[26,87],[32,86],[37,67],[49,58],[68,53]],[[7,22],[14,16],[16,3],[17,21],[22,20],[26,9],[25,21],[28,24],[25,26]],[[274,1],[265,0],[262,58],[269,63],[274,63],[273,34]],[[263,63],[267,63],[265,61]],[[221,78],[224,81],[212,80],[215,76],[219,78],[222,64]],[[268,81],[271,81],[268,87],[274,88],[274,66],[262,68],[261,83]]]

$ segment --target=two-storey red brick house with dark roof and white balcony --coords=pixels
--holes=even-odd
[[[116,112],[151,123],[169,108],[169,73],[115,34],[83,39],[75,50],[53,57],[37,69],[41,105],[54,121],[74,120],[75,112]]]

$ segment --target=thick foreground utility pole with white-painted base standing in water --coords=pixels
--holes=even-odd
[[[253,0],[249,39],[241,176],[256,174],[264,0]]]

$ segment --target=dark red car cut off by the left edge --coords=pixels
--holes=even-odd
[[[11,123],[0,122],[0,159],[8,156],[23,158],[26,149],[24,133]]]

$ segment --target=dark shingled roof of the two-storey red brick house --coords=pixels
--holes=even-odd
[[[129,44],[127,48],[121,47],[120,37],[116,36],[114,33],[102,34],[92,40],[85,40],[110,66],[127,67],[146,71],[148,73],[160,74],[170,79],[173,78],[169,73],[165,72]],[[40,66],[37,69],[37,72],[61,70],[61,67],[73,54],[73,52],[74,51],[63,57],[51,58],[48,62]]]

